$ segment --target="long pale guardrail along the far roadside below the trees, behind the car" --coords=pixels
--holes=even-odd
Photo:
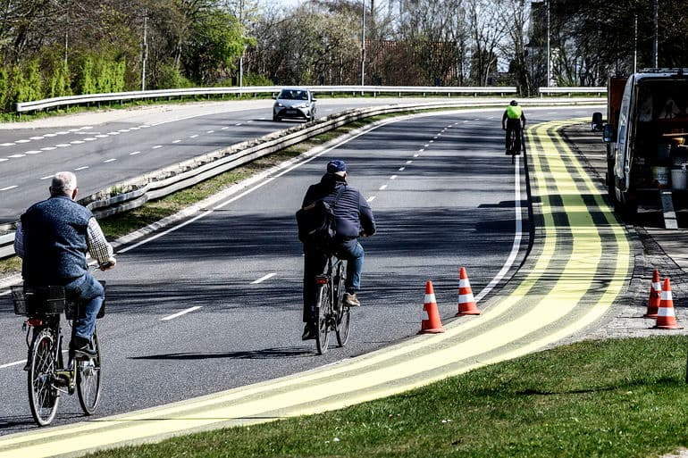
[[[280,92],[284,86],[253,86],[253,87],[188,87],[181,89],[163,89],[152,91],[114,92],[109,94],[85,94],[81,96],[63,96],[20,102],[14,105],[14,110],[22,112],[38,112],[48,108],[70,107],[83,104],[105,104],[112,102],[130,102],[144,99],[169,99],[190,96],[241,96],[246,94],[274,94]],[[352,95],[371,94],[427,94],[434,95],[473,95],[485,94],[516,94],[516,87],[424,87],[424,86],[301,86],[314,93],[351,93]]]

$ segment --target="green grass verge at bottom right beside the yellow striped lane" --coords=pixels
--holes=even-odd
[[[685,344],[582,342],[340,411],[89,456],[659,456],[688,444]]]

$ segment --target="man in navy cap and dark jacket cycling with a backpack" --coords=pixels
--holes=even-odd
[[[347,164],[344,161],[331,161],[327,164],[327,173],[320,183],[308,187],[302,207],[323,199],[331,204],[340,187],[345,187],[337,205],[334,207],[336,225],[335,254],[347,260],[347,281],[344,304],[357,307],[361,303],[356,296],[361,286],[361,271],[365,252],[358,243],[358,237],[369,237],[375,233],[375,220],[370,205],[364,196],[347,184]],[[327,254],[313,246],[304,245],[304,313],[306,323],[304,340],[315,338],[315,276],[323,273],[327,265]]]

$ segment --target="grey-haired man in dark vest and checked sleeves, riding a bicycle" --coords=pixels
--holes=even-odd
[[[103,271],[116,262],[96,218],[75,202],[77,192],[77,178],[71,171],[55,174],[50,198],[31,205],[21,215],[14,251],[22,259],[25,285],[63,286],[68,299],[86,304],[86,318],[79,320],[70,348],[88,353],[105,290],[88,272],[86,253]]]

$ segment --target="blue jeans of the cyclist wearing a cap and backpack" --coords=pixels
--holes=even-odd
[[[347,281],[344,289],[355,293],[361,287],[361,272],[365,251],[357,239],[340,244],[335,252],[338,258],[347,261]],[[327,269],[327,256],[315,250],[304,250],[304,322],[312,321],[315,315],[315,276]]]

